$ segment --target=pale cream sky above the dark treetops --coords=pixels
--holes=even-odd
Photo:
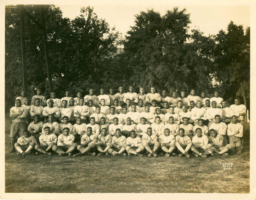
[[[89,4],[80,5],[59,5],[60,10],[63,12],[63,17],[70,19],[76,18],[80,15],[80,8]],[[179,11],[184,8],[187,13],[190,13],[189,24],[190,29],[199,27],[200,31],[205,35],[217,34],[221,29],[227,29],[228,23],[233,21],[237,25],[250,26],[250,6],[232,5],[232,6],[218,6],[218,5],[104,5],[104,4],[90,4],[94,8],[94,12],[99,18],[105,18],[110,27],[116,25],[116,30],[126,33],[130,26],[134,25],[134,15],[139,14],[140,11],[147,11],[147,9],[154,9],[160,12],[161,16],[167,10],[173,10],[178,7]],[[196,27],[195,27],[196,26]]]

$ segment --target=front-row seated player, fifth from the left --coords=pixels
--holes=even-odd
[[[108,155],[108,150],[111,146],[107,145],[111,143],[112,136],[108,134],[106,128],[102,128],[101,134],[98,136],[97,143],[95,143],[96,149],[100,152],[98,156]]]

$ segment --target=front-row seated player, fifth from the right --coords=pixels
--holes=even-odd
[[[157,140],[157,136],[155,134],[152,134],[152,128],[147,128],[147,134],[144,134],[141,138],[142,145],[145,147],[145,149],[148,151],[148,157],[151,157],[153,155],[156,157],[156,153],[160,147],[160,143]]]

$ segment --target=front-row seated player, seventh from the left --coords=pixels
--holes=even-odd
[[[126,138],[126,151],[128,155],[135,154],[142,157],[143,154],[140,154],[144,151],[145,147],[142,145],[142,140],[137,136],[135,131],[131,131],[131,137]]]

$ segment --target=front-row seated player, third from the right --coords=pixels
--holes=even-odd
[[[179,129],[179,135],[175,137],[175,146],[178,149],[178,154],[180,157],[186,156],[189,158],[188,151],[193,145],[191,138],[185,135],[185,130],[183,128]]]

